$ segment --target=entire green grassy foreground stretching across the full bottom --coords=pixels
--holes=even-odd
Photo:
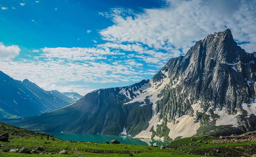
[[[0,141],[1,157],[251,157],[256,154],[256,132],[221,138],[178,139],[168,144],[166,148],[63,141],[56,137],[49,137],[50,140],[47,141],[47,134],[32,132],[0,122],[0,135],[7,132],[11,138],[6,142]],[[55,141],[52,141],[52,138]],[[9,152],[11,149],[20,150],[23,147],[28,151],[36,150],[37,154]],[[38,147],[43,150],[38,150]],[[58,154],[61,150],[66,150],[68,154]]]

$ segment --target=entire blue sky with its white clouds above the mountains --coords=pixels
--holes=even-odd
[[[0,70],[80,94],[150,79],[209,33],[256,51],[255,0],[0,0]]]

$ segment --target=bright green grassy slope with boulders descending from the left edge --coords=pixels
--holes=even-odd
[[[51,140],[52,137],[47,141],[47,134],[35,133],[30,130],[0,123],[0,135],[6,132],[8,132],[9,136],[13,139],[8,139],[7,142],[0,141],[1,157],[201,157],[200,155],[186,154],[180,150],[161,149],[150,146],[71,142],[62,141],[55,137],[55,141]],[[43,137],[42,140],[41,137]],[[45,142],[47,144],[45,144]],[[14,148],[20,150],[22,147],[29,151],[36,150],[38,153],[41,152],[41,154],[4,152]],[[37,147],[42,147],[45,151],[39,151],[36,149]],[[58,154],[60,150],[67,150],[68,154]]]

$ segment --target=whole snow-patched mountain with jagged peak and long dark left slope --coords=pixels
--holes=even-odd
[[[255,63],[227,29],[171,58],[151,80],[95,90],[60,109],[2,121],[40,132],[164,140],[242,134],[256,130]]]

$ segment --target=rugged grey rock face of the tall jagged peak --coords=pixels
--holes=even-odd
[[[190,106],[201,100],[204,111],[211,106],[237,113],[242,103],[255,99],[255,62],[253,54],[237,46],[229,29],[208,35],[162,68],[170,85],[161,92],[157,112],[173,121],[191,114]]]

